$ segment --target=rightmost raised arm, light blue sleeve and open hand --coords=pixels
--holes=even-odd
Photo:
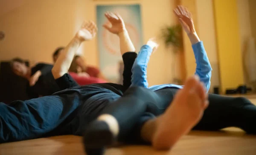
[[[201,82],[204,83],[207,92],[209,91],[212,76],[212,68],[204,49],[203,42],[200,41],[194,27],[192,14],[183,6],[174,9],[175,15],[178,17],[180,24],[186,31],[195,54],[196,69],[195,74],[199,76]]]

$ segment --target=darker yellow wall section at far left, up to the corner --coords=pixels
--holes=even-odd
[[[71,0],[27,0],[0,17],[0,59],[15,56],[32,61],[52,62],[51,54],[74,35],[75,4]]]

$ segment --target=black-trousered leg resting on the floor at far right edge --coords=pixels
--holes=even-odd
[[[209,94],[209,107],[195,130],[220,130],[239,127],[256,134],[256,106],[248,99]]]

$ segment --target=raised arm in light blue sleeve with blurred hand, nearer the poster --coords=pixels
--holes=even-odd
[[[151,54],[157,49],[158,44],[154,39],[149,39],[140,52],[132,67],[131,86],[148,87],[147,66]]]

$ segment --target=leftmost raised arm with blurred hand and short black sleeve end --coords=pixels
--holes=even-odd
[[[85,22],[64,51],[58,56],[58,59],[52,68],[52,75],[59,86],[64,85],[61,87],[62,89],[75,86],[74,84],[76,82],[70,82],[71,77],[67,74],[68,70],[81,42],[93,39],[96,35],[96,31],[97,27],[95,23],[92,21]]]

